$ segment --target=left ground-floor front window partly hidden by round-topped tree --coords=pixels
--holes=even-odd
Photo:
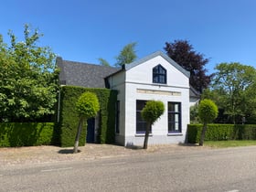
[[[146,129],[146,122],[142,118],[141,112],[144,109],[146,101],[137,100],[136,101],[136,133],[145,133]],[[151,133],[151,127],[149,130]]]

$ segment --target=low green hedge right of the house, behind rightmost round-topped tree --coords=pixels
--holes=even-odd
[[[202,131],[202,124],[187,125],[187,142],[197,144]],[[255,124],[208,124],[205,141],[255,140]]]

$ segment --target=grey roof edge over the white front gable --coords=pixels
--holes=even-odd
[[[176,63],[176,61],[174,61],[173,59],[170,59],[167,55],[165,55],[162,51],[156,51],[155,53],[152,53],[151,55],[148,55],[146,57],[144,57],[143,59],[139,59],[139,60],[136,60],[136,61],[133,61],[132,63],[130,64],[125,64],[123,66],[123,69],[125,70],[129,70],[129,69],[132,69],[133,67],[137,66],[137,65],[140,65],[142,63],[144,63],[145,61],[147,60],[150,60],[150,59],[154,59],[155,57],[157,56],[161,56],[162,58],[164,58],[165,60],[167,60],[172,66],[174,66],[176,69],[178,69],[179,71],[181,71],[184,75],[187,76],[187,78],[190,77],[190,72],[187,71],[186,69],[183,69],[180,65],[178,65]]]

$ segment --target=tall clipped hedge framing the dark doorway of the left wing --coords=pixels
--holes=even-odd
[[[60,112],[59,112],[59,143],[61,146],[73,146],[79,117],[75,112],[75,104],[84,91],[94,92],[100,102],[99,130],[97,142],[100,144],[114,143],[114,124],[115,124],[115,103],[117,91],[108,89],[91,89],[74,86],[64,86],[60,91]],[[86,129],[85,125],[80,134],[80,145],[85,144]]]

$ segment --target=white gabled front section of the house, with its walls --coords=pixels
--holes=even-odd
[[[165,69],[165,83],[153,82],[153,69],[161,65]],[[136,128],[137,101],[163,101],[165,112],[152,126],[148,144],[178,144],[186,140],[189,123],[189,72],[162,52],[125,65],[108,77],[110,88],[118,91],[120,102],[119,133],[116,142],[123,145],[142,145],[144,133]],[[179,103],[179,131],[168,129],[168,102]],[[169,120],[170,121],[170,120]],[[177,123],[178,124],[178,123]]]

